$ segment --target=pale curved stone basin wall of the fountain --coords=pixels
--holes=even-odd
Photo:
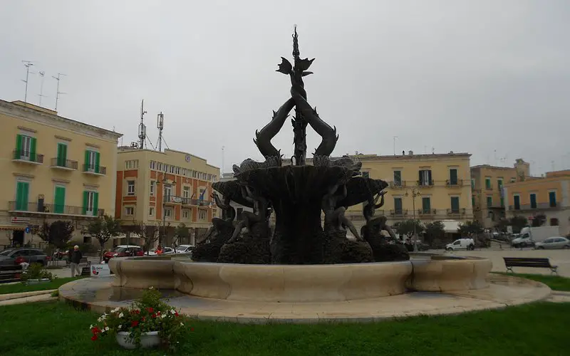
[[[487,258],[413,256],[410,261],[334,265],[200,263],[177,256],[112,258],[113,286],[161,288],[203,298],[263,303],[360,300],[408,290],[489,286]]]

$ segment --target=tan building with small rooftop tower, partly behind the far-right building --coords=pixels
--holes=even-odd
[[[471,167],[472,205],[475,220],[484,228],[492,229],[505,217],[505,184],[532,179],[530,165],[517,159],[513,167],[494,167],[482,164]]]

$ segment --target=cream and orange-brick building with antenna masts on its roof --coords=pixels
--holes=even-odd
[[[115,216],[123,226],[164,223],[167,236],[161,244],[172,244],[181,223],[191,232],[190,241],[182,242],[193,244],[219,214],[211,198],[219,167],[206,159],[175,150],[119,147],[116,167]]]

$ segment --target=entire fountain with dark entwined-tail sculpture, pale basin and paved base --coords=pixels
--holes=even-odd
[[[224,214],[212,219],[192,256],[112,258],[115,276],[68,283],[61,299],[104,311],[152,286],[198,318],[306,322],[457,313],[549,295],[541,283],[489,275],[487,258],[410,256],[395,243],[385,216],[374,216],[388,184],[362,177],[361,163],[351,157],[331,158],[336,127],[311,108],[304,88],[314,60],[301,59],[296,29],[293,43],[294,63],[281,58],[277,70],[289,75],[290,98],[255,133],[264,162],[246,159],[234,165],[235,180],[213,184],[222,197],[212,198]],[[294,155],[284,164],[271,139],[293,109]],[[322,139],[312,164],[306,162],[308,126]],[[232,201],[254,212],[236,222]],[[360,233],[344,215],[357,204],[366,219]],[[356,239],[347,238],[347,229]]]

